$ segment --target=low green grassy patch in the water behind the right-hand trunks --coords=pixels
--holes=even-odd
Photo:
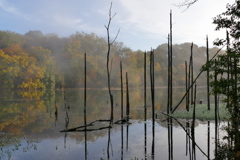
[[[199,120],[214,120],[215,113],[214,113],[215,106],[211,105],[211,110],[207,110],[207,104],[198,104],[196,105],[196,119]],[[177,110],[171,116],[175,118],[182,118],[182,119],[192,119],[193,115],[193,105],[190,107],[189,112],[184,110]],[[226,109],[226,104],[219,104],[219,117],[220,120],[227,120],[229,119],[229,113]]]

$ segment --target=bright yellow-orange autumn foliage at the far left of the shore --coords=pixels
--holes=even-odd
[[[11,45],[0,49],[0,83],[22,89],[44,88],[41,79],[47,75],[47,67],[53,65],[54,59],[47,49],[32,47],[27,54],[20,45]]]

